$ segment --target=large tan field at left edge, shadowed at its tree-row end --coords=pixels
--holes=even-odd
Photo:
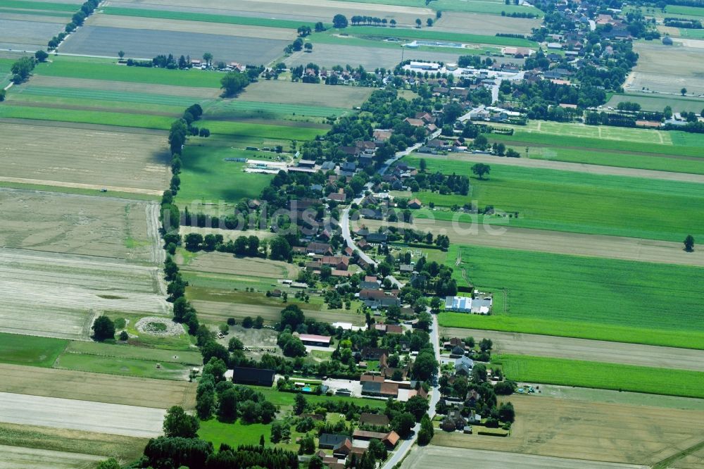
[[[165,135],[32,122],[3,123],[0,139],[0,181],[159,195],[171,177]]]

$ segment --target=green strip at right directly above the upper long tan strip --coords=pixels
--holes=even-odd
[[[674,137],[675,135],[684,132],[670,132],[673,142],[676,139],[681,139],[682,142],[697,142],[698,135],[693,138]],[[518,142],[518,145],[529,146],[530,144],[542,144],[543,146],[562,146],[579,149],[582,147],[591,149],[615,150],[615,151],[636,151],[638,153],[659,154],[659,155],[675,155],[675,156],[696,156],[701,158],[704,156],[702,149],[697,146],[679,146],[628,142],[623,140],[596,139],[589,137],[567,137],[565,135],[539,134],[523,131],[516,131],[514,135],[490,134],[491,142],[503,142],[510,145],[511,142]]]

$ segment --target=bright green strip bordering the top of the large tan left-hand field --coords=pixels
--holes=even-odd
[[[33,120],[55,120],[82,124],[118,125],[143,129],[168,130],[173,117],[108,111],[83,111],[61,108],[40,108],[34,106],[0,106],[0,118],[20,118]]]

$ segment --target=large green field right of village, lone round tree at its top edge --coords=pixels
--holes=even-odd
[[[417,167],[419,159],[407,162]],[[426,161],[431,172],[470,173],[470,165],[462,161]],[[704,220],[697,214],[704,206],[704,187],[695,183],[492,164],[489,179],[472,177],[471,185],[469,196],[445,196],[444,202],[463,206],[473,200],[479,208],[491,205],[519,214],[484,217],[488,223],[674,242],[689,234],[704,239]],[[427,192],[417,196],[426,202],[438,198]],[[434,211],[432,216],[452,220],[455,213]]]

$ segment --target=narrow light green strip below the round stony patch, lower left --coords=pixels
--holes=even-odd
[[[160,368],[157,368],[157,364]],[[159,380],[184,380],[189,367],[180,363],[118,358],[93,354],[62,354],[54,368],[89,371],[108,375],[149,377]]]

